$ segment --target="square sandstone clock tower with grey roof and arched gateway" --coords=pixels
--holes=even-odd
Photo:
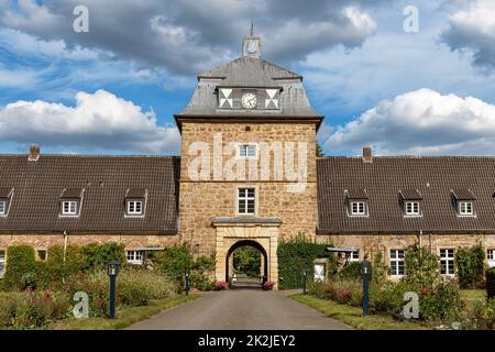
[[[232,253],[263,254],[263,280],[278,280],[283,238],[316,239],[316,133],[323,119],[302,77],[261,57],[261,38],[242,56],[198,76],[175,116],[182,134],[179,235],[213,254],[216,279],[230,280]]]

